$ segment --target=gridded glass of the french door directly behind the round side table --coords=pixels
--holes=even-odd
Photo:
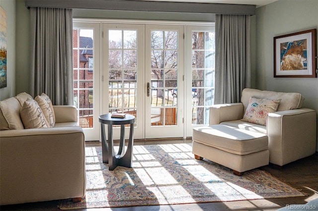
[[[109,113],[136,116],[137,125],[137,31],[108,30]]]

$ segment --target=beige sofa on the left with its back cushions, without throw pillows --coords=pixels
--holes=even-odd
[[[0,205],[85,195],[84,134],[74,106],[53,106],[54,127],[23,129],[26,93],[0,102]],[[22,125],[22,128],[21,128]]]

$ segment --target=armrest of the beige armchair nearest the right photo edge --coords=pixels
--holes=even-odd
[[[317,114],[309,108],[268,113],[269,162],[284,165],[316,152]]]

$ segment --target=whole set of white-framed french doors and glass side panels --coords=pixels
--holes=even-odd
[[[98,116],[105,113],[135,115],[135,139],[191,137],[193,127],[209,123],[213,25],[79,20],[73,26],[74,105],[85,141],[100,139]]]

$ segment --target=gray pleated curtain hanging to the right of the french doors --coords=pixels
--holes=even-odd
[[[214,104],[240,102],[250,87],[250,16],[217,14]]]

